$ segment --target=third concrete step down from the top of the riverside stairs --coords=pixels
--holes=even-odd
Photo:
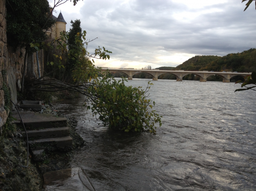
[[[53,150],[69,150],[72,146],[72,138],[70,136],[36,139],[28,141],[28,145],[32,151],[45,149],[47,151]]]

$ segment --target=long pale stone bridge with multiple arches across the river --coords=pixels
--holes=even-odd
[[[188,74],[194,74],[200,77],[200,82],[206,82],[206,79],[211,75],[219,75],[222,77],[223,82],[230,82],[230,78],[234,76],[246,76],[250,75],[251,73],[234,73],[234,72],[208,72],[208,71],[171,71],[171,70],[145,70],[145,69],[112,69],[112,68],[102,68],[101,72],[105,72],[106,70],[109,72],[122,72],[128,75],[128,80],[133,79],[133,75],[144,72],[148,73],[152,76],[153,80],[157,80],[158,76],[162,74],[173,74],[176,76],[177,81],[182,81],[182,78]]]

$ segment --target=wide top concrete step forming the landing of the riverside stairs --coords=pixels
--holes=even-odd
[[[38,130],[43,128],[67,126],[66,118],[54,117],[52,114],[34,113],[31,111],[20,111],[20,115],[27,130]],[[12,123],[20,126],[20,128],[23,129],[23,126],[20,123],[20,117],[17,111],[14,111],[12,113],[12,117],[17,119],[17,120],[13,120]]]

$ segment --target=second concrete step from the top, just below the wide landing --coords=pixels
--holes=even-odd
[[[25,131],[22,131],[23,135],[26,137]],[[54,137],[66,137],[69,135],[68,127],[54,127],[45,128],[39,130],[27,130],[28,138],[54,138]]]

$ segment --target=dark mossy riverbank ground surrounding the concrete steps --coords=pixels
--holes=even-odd
[[[82,138],[75,133],[77,121],[57,111],[54,106],[45,105],[43,113],[52,113],[55,117],[67,119],[70,137],[73,139],[72,150],[68,152],[47,152],[42,162],[35,162],[29,153],[29,166],[26,166],[27,147],[21,129],[6,132],[0,138],[0,191],[39,191],[43,188],[43,174],[69,168],[69,161],[75,149],[83,145]]]

